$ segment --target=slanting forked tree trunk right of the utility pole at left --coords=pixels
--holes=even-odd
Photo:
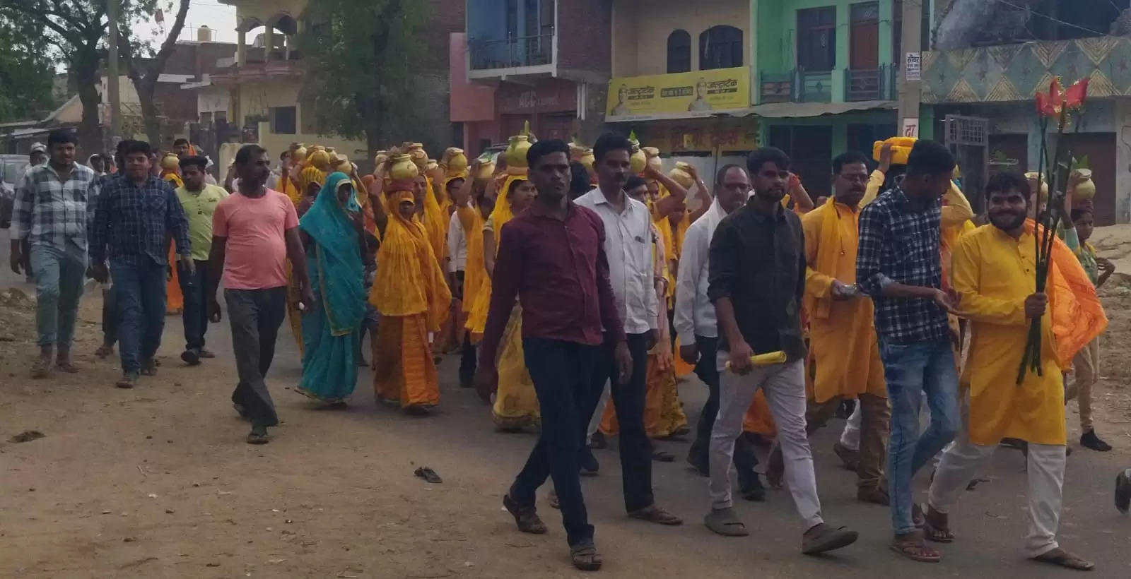
[[[122,63],[126,64],[126,75],[133,83],[133,88],[138,93],[146,137],[154,147],[159,147],[162,144],[161,119],[154,102],[157,79],[161,78],[162,71],[165,70],[165,63],[169,62],[169,57],[176,47],[176,38],[181,35],[181,31],[184,28],[184,17],[189,14],[189,0],[179,1],[180,6],[173,19],[173,26],[156,51],[153,50],[150,43],[135,37],[132,24],[138,23],[143,16],[153,14],[157,8],[157,2],[155,0],[136,0],[123,6],[122,11],[119,53],[122,57]]]

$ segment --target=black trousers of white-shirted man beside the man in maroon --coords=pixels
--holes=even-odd
[[[607,339],[601,346],[593,370],[593,383],[589,399],[585,406],[585,421],[580,433],[585,435],[589,418],[597,409],[601,392],[605,382],[612,382],[610,391],[613,408],[616,411],[616,422],[620,424],[621,472],[624,487],[624,508],[629,512],[650,507],[655,499],[651,494],[651,441],[644,427],[645,397],[648,392],[648,334],[629,334],[629,352],[632,354],[632,375],[627,383],[616,379],[616,361],[613,352],[615,344]]]

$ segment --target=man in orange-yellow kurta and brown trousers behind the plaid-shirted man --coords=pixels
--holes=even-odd
[[[867,182],[867,159],[844,153],[832,159],[834,199],[802,217],[805,232],[805,295],[809,372],[805,422],[810,433],[834,416],[843,399],[861,406],[856,496],[888,504],[883,482],[888,392],[883,382],[872,301],[856,290],[856,222]],[[774,461],[770,461],[771,465]]]

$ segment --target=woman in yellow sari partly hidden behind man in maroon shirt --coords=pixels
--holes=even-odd
[[[483,224],[483,266],[486,279],[494,273],[494,258],[499,253],[495,240],[499,239],[499,232],[511,217],[526,210],[537,195],[534,183],[526,179],[526,167],[510,167],[509,173],[502,185],[506,197],[495,204],[491,216]],[[481,300],[480,305],[483,302],[490,305],[490,287],[485,291],[481,287],[476,300]],[[483,326],[486,325],[485,308],[472,313],[476,317],[477,331],[482,334]],[[538,398],[523,355],[523,308],[517,301],[507,320],[495,365],[499,369],[499,389],[491,408],[495,425],[502,432],[518,432],[526,426],[539,424],[542,415],[538,412]]]

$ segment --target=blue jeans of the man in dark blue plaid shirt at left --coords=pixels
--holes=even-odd
[[[141,258],[140,263],[110,262],[118,299],[118,343],[122,373],[137,374],[141,361],[153,360],[165,329],[165,265]]]

